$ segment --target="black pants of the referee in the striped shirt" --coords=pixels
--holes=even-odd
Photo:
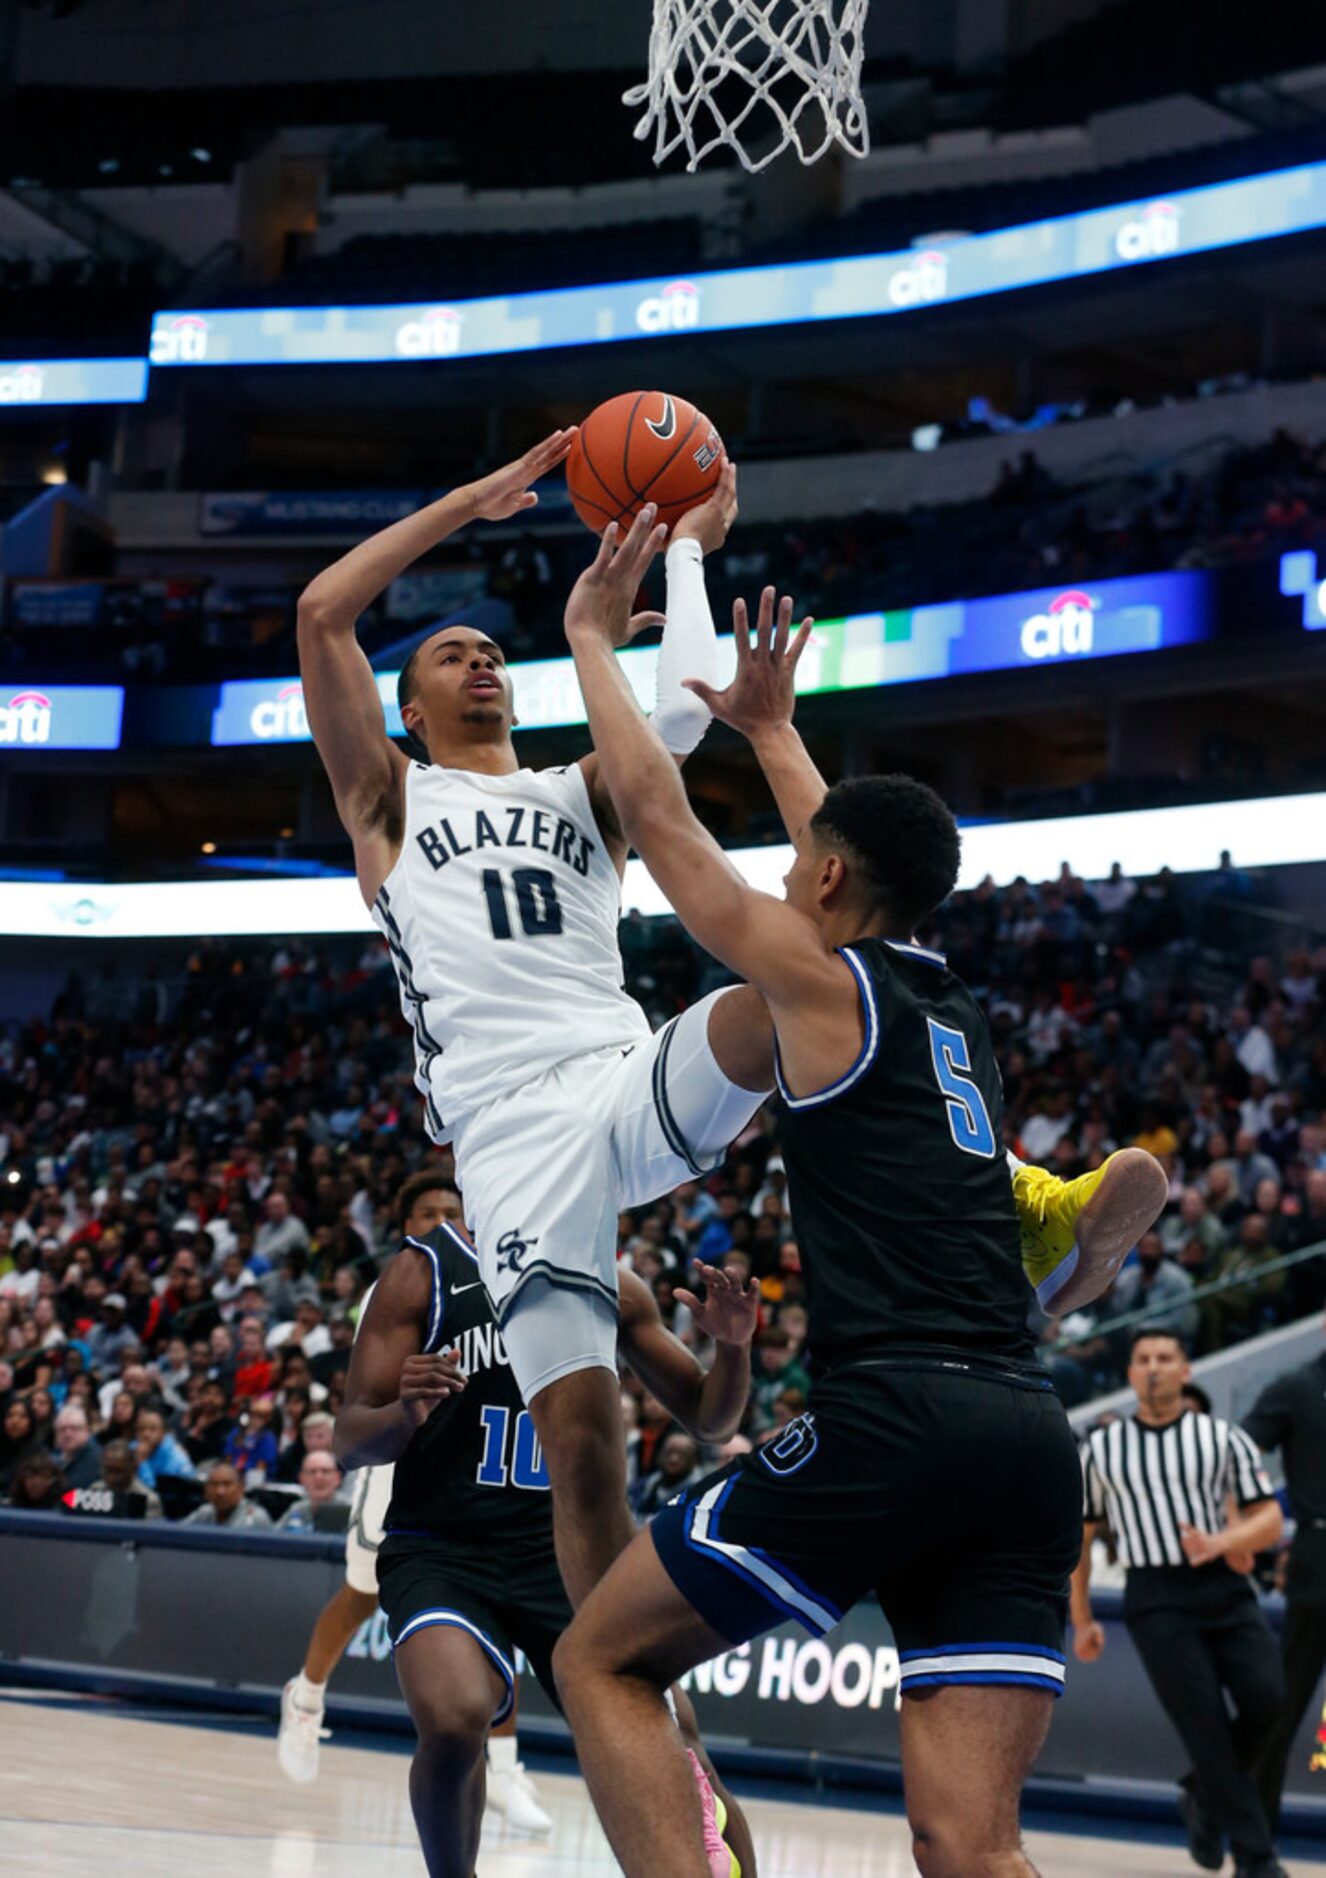
[[[1193,1763],[1185,1784],[1223,1827],[1238,1863],[1272,1857],[1253,1767],[1285,1705],[1285,1675],[1257,1596],[1232,1581],[1228,1596],[1134,1611],[1127,1626]]]

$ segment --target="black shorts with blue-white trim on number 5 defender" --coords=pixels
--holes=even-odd
[[[794,1619],[823,1636],[873,1593],[902,1692],[1063,1692],[1082,1472],[1035,1371],[862,1362],[755,1454],[650,1527],[682,1596],[731,1643]]]

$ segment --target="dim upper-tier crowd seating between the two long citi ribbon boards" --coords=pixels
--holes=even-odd
[[[977,501],[860,511],[815,522],[742,522],[708,563],[717,620],[764,580],[817,618],[902,608],[980,593],[1069,586],[1168,567],[1228,567],[1326,539],[1326,439],[1277,430],[1226,454],[1202,477],[1133,475],[1059,485],[1022,447]],[[329,560],[332,550],[329,550]],[[539,535],[473,531],[428,571],[458,597],[445,620],[481,618],[513,659],[565,652],[562,610],[586,563],[578,524]],[[1275,592],[1275,586],[1268,592]],[[60,627],[68,678],[222,680],[297,667],[297,590],[227,582],[107,582],[96,623]],[[4,670],[47,670],[51,625],[24,627],[9,595]],[[475,614],[481,608],[481,614]],[[400,657],[413,633],[387,603],[370,608],[361,640],[370,657]]]

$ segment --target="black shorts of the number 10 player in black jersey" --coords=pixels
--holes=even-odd
[[[571,1623],[552,1534],[545,1544],[503,1547],[498,1542],[460,1546],[449,1538],[389,1532],[378,1553],[378,1596],[387,1613],[393,1651],[434,1624],[464,1630],[475,1639],[507,1685],[492,1720],[503,1722],[515,1705],[517,1662],[530,1668],[558,1701],[552,1651]]]

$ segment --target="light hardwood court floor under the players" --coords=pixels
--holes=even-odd
[[[408,1754],[323,1747],[291,1786],[261,1724],[143,1720],[115,1703],[0,1690],[0,1869],[6,1878],[424,1878]],[[616,1865],[584,1786],[539,1775],[550,1840],[485,1827],[481,1878],[609,1878]],[[763,1878],[911,1878],[896,1810],[749,1801]],[[1046,1878],[1178,1878],[1178,1846],[1027,1835]],[[1292,1878],[1326,1865],[1290,1861]],[[663,1874],[659,1874],[663,1878]]]

